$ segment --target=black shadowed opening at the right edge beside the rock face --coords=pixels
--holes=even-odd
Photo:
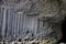
[[[62,34],[63,34],[63,36],[58,43],[62,43],[62,42],[66,43],[66,18],[62,23]]]

